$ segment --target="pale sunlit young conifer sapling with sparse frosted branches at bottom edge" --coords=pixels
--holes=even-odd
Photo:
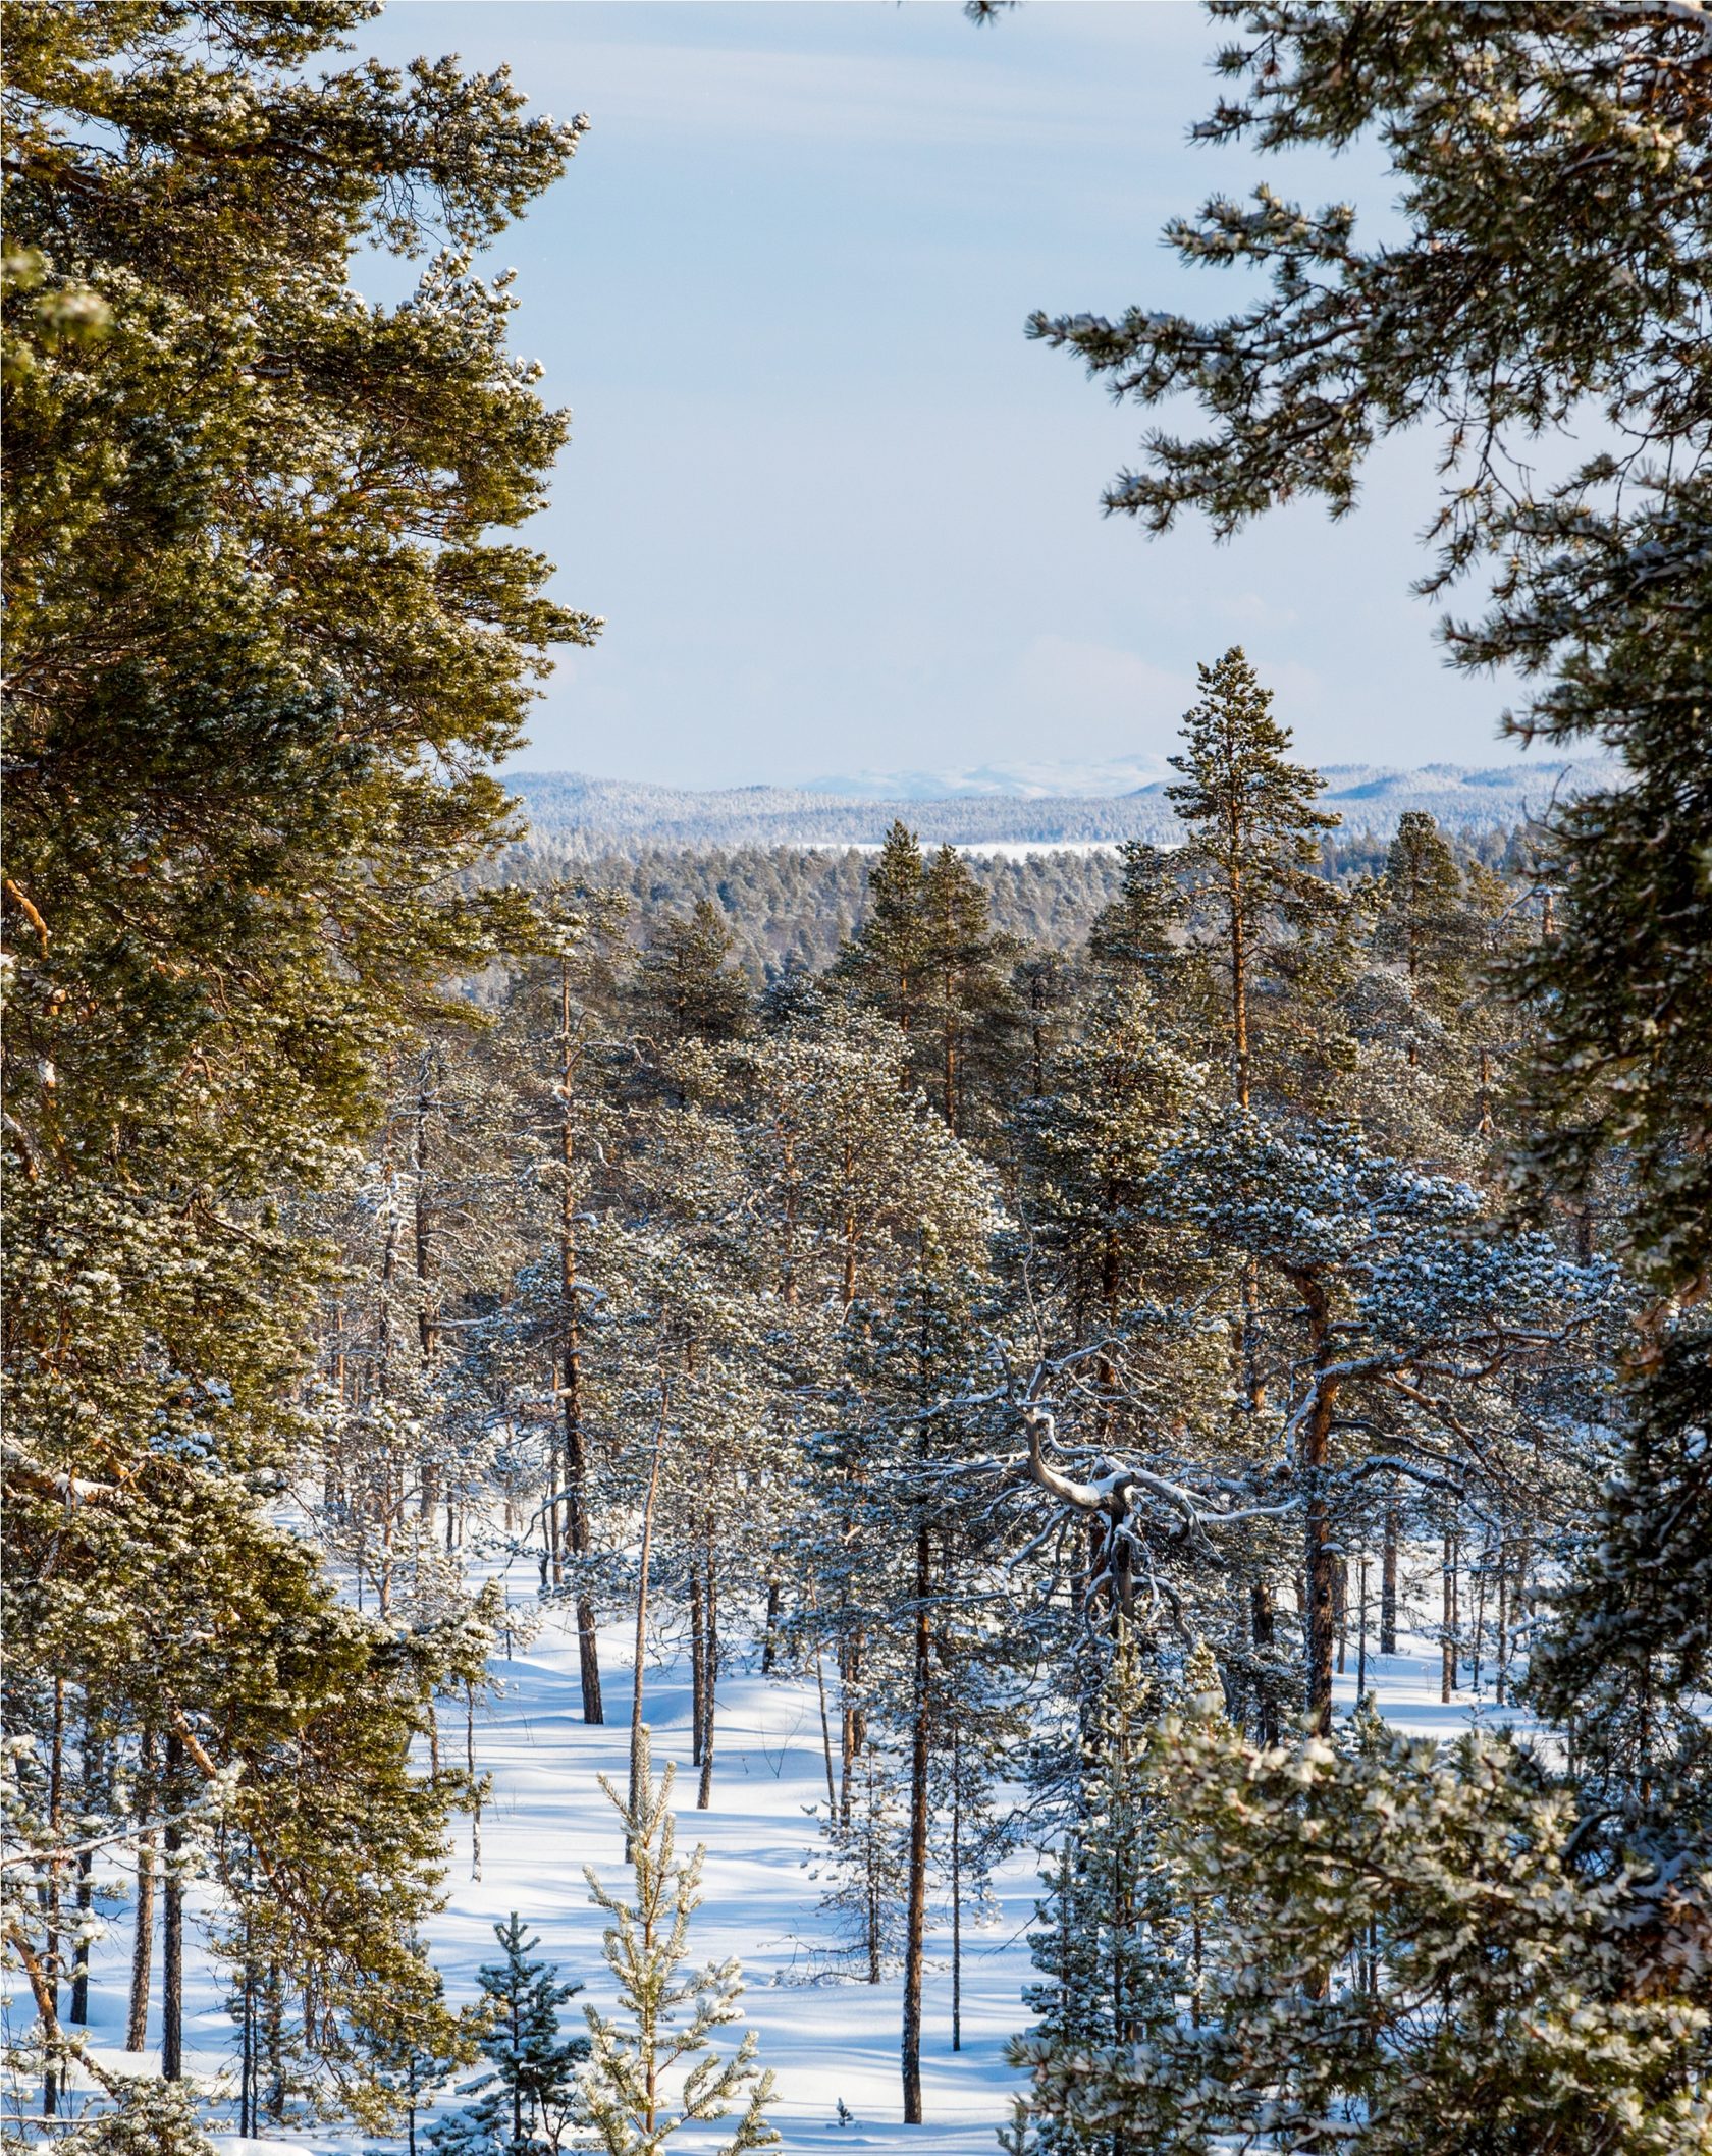
[[[701,1904],[705,1850],[677,1863],[671,1811],[673,1768],[655,1781],[647,1731],[640,1733],[634,1805],[602,1777],[630,1846],[634,1899],[621,1902],[584,1867],[589,1893],[612,1923],[602,1940],[606,1966],[619,1986],[623,2020],[584,2007],[591,2057],[582,2083],[589,2126],[606,2156],[660,2156],[684,2126],[729,2117],[742,2104],[735,2130],[718,2156],[772,2147],[768,2126],[772,2074],[755,2065],[755,2033],[722,2059],[714,2033],[742,2020],[742,1973],[735,1962],[709,1962],[684,1973],[690,1917]]]

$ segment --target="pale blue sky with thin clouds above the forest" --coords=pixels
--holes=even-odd
[[[1190,149],[1186,0],[392,0],[367,50],[509,60],[593,129],[489,267],[574,412],[530,539],[604,614],[515,768],[681,785],[1169,752],[1195,660],[1242,642],[1317,761],[1509,761],[1503,683],[1410,597],[1432,444],[1361,511],[1216,548],[1100,513],[1147,416],[1022,334],[1031,308],[1229,306],[1160,226],[1270,177],[1356,201],[1376,157]],[[1468,595],[1473,597],[1473,595]]]

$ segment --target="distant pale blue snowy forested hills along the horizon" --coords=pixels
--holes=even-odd
[[[1540,817],[1555,800],[1611,785],[1615,770],[1600,759],[1490,770],[1333,763],[1322,776],[1326,804],[1345,830],[1389,837],[1406,808],[1423,808],[1447,830],[1509,830]],[[875,845],[897,817],[931,845],[1164,843],[1179,834],[1164,780],[1117,796],[944,800],[869,800],[793,787],[694,791],[580,772],[509,772],[507,785],[528,815],[535,845],[574,858],[668,845]]]

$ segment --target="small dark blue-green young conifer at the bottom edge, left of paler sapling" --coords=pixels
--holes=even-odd
[[[539,1938],[526,1936],[517,1910],[494,1925],[505,1960],[483,1962],[481,2057],[487,2072],[468,2083],[468,2104],[442,2119],[431,2143],[442,2156],[539,2156],[563,2150],[578,2124],[578,2068],[589,2057],[586,2035],[563,2035],[558,2009],[582,1986],[561,1984],[552,1962],[535,1958]]]

